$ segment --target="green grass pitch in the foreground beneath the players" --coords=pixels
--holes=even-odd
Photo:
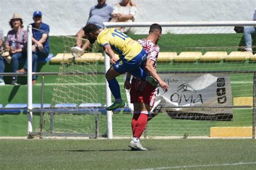
[[[142,140],[150,151],[131,151],[129,142],[2,139],[0,169],[255,169],[256,165],[252,139]],[[251,164],[235,165],[247,162]]]

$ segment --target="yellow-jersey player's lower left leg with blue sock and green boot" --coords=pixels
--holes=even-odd
[[[114,103],[107,107],[106,110],[111,111],[119,107],[124,107],[125,103],[121,98],[121,93],[120,93],[120,86],[118,84],[118,81],[116,79],[117,76],[119,76],[122,73],[117,72],[113,67],[110,67],[110,69],[106,72],[106,79],[107,82],[109,83],[109,88],[111,93],[114,96]]]

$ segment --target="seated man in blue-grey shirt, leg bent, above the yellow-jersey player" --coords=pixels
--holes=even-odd
[[[99,29],[103,29],[103,22],[109,22],[111,19],[111,13],[113,11],[113,7],[111,5],[106,4],[106,0],[98,0],[98,4],[92,6],[89,13],[89,19],[87,20],[87,24],[95,24]],[[84,51],[87,47],[90,46],[90,42],[86,40],[83,44],[82,38],[85,38],[84,30],[81,28],[76,34],[76,46],[71,48],[71,52],[74,57],[80,57],[84,54]]]

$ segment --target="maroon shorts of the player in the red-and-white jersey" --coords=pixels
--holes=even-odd
[[[154,106],[154,101],[156,100],[156,87],[152,87],[147,81],[140,79],[132,79],[131,83],[131,103],[145,103]]]

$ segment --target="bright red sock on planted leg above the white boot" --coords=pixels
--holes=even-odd
[[[136,127],[133,133],[133,137],[140,138],[142,135],[143,131],[145,130],[145,127],[147,125],[147,117],[149,117],[149,114],[139,114],[139,118],[136,123]]]

